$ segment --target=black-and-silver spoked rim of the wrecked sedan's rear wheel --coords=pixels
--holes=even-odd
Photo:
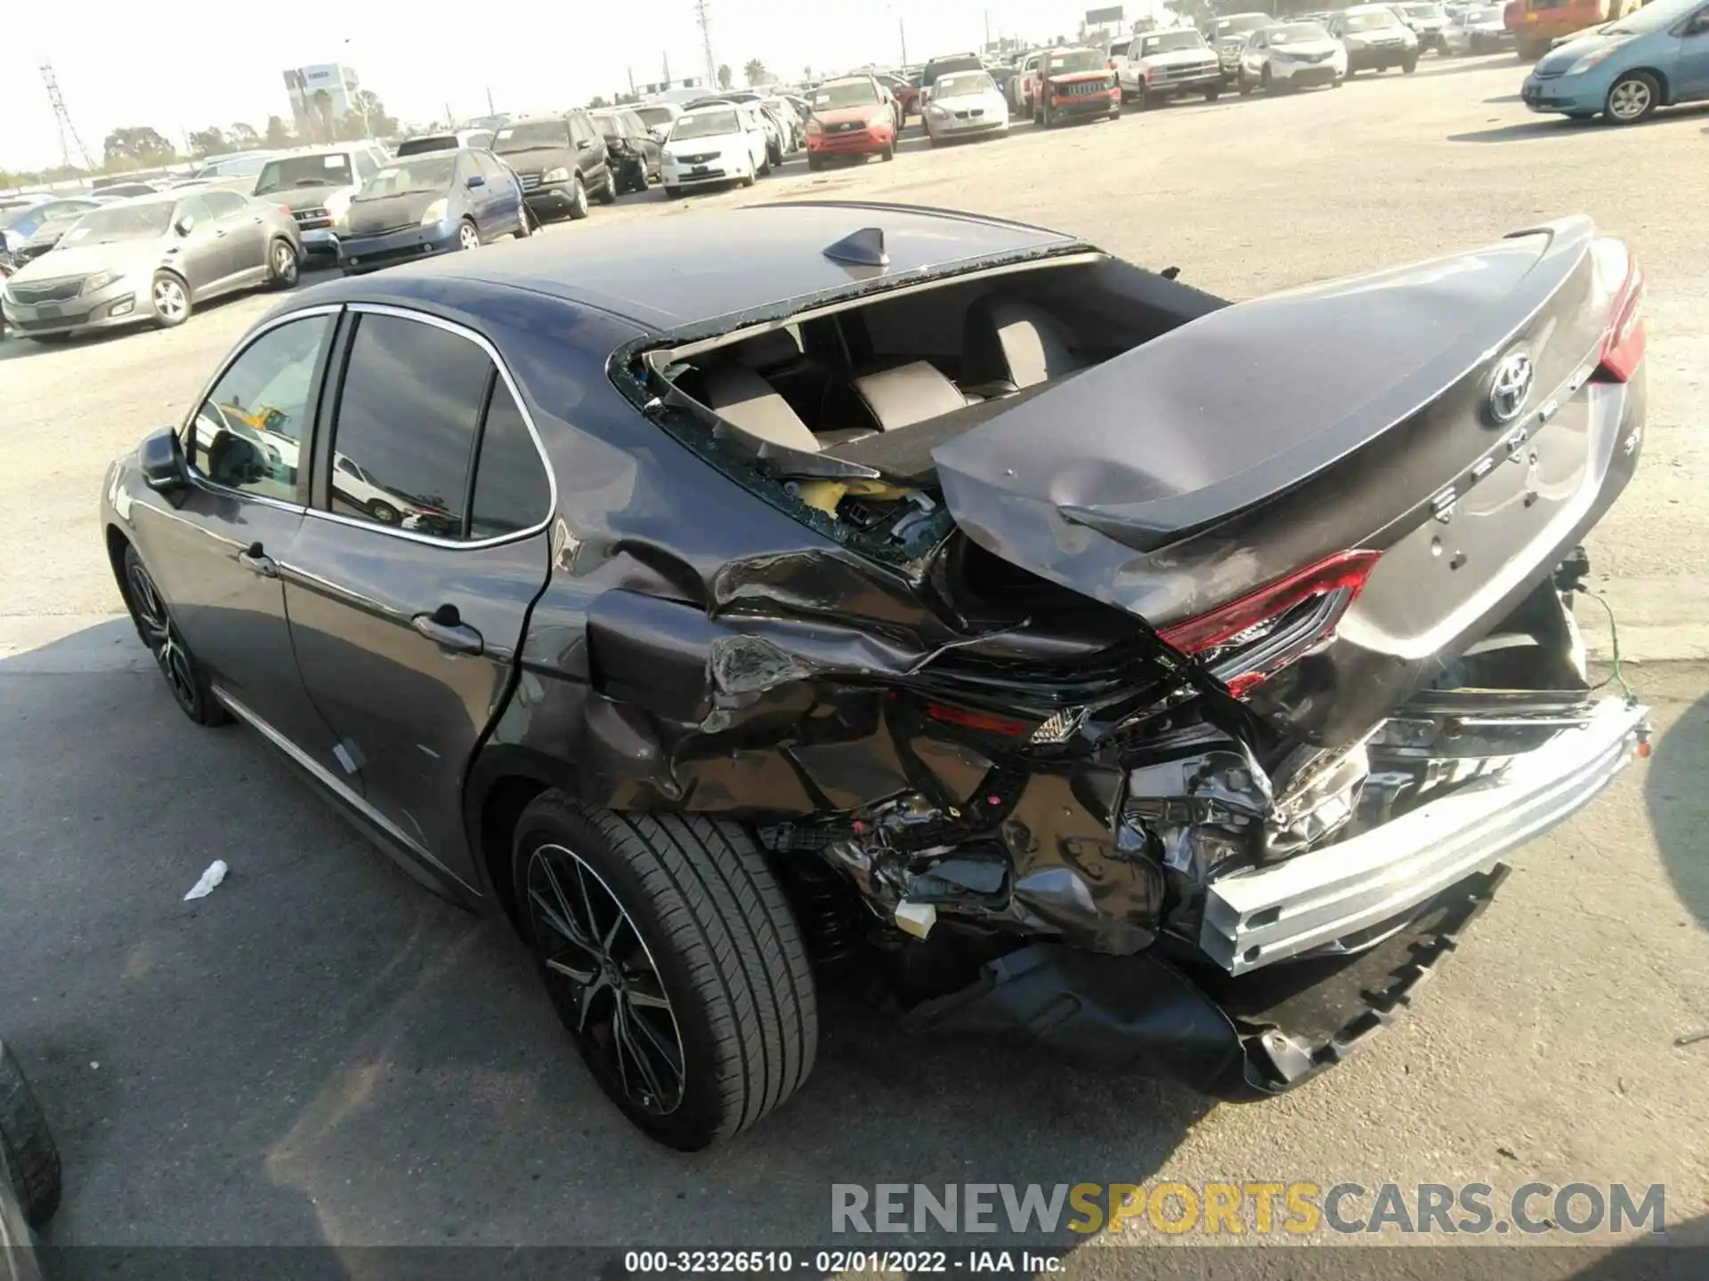
[[[588,1061],[637,1108],[670,1115],[684,1098],[682,1030],[629,912],[564,845],[533,851],[526,890],[547,987]]]

